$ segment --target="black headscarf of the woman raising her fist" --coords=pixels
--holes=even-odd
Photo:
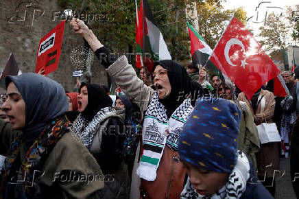
[[[198,82],[193,82],[186,69],[174,60],[160,60],[155,62],[156,66],[162,66],[167,70],[168,79],[171,86],[170,95],[166,99],[160,99],[165,106],[167,117],[171,117],[174,110],[184,102],[186,95],[191,94],[191,101],[195,104],[198,94],[203,94],[202,86]],[[193,99],[194,98],[194,99]]]

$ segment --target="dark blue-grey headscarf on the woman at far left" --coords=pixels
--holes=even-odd
[[[25,101],[26,141],[35,139],[51,119],[63,115],[69,108],[67,95],[58,82],[36,73],[23,73],[19,76],[6,76],[5,86],[14,82]]]

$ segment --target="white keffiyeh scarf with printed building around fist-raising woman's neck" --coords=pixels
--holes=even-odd
[[[156,179],[165,145],[178,150],[180,131],[192,110],[191,100],[187,98],[167,119],[165,106],[160,103],[157,93],[153,95],[143,122],[143,155],[136,171],[140,178],[147,181]]]

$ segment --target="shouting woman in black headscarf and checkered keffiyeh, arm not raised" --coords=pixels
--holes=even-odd
[[[128,198],[130,176],[128,165],[121,159],[124,110],[112,108],[112,100],[98,84],[82,82],[78,95],[78,115],[72,130],[93,154],[104,175],[114,175],[106,182],[101,198]]]

